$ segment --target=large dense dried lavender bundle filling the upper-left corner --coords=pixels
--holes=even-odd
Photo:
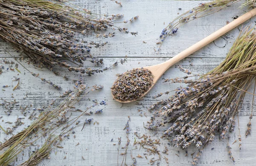
[[[28,56],[30,62],[39,68],[53,70],[53,66],[60,66],[91,75],[103,70],[85,68],[83,62],[102,64],[103,59],[91,55],[90,50],[107,42],[79,42],[75,35],[80,33],[86,37],[108,38],[114,37],[115,32],[101,34],[100,31],[118,29],[136,36],[137,32],[115,26],[113,20],[122,16],[113,14],[98,18],[87,9],[78,11],[44,0],[0,0],[0,38],[23,56]],[[130,21],[137,18],[133,17]]]

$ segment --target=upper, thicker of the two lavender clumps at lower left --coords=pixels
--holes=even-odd
[[[93,87],[88,87],[87,84],[84,84],[82,78],[80,78],[75,83],[74,90],[67,90],[63,94],[63,96],[61,96],[67,97],[60,105],[58,105],[58,107],[55,107],[55,109],[53,110],[50,110],[50,107],[48,107],[44,112],[42,112],[38,116],[38,118],[35,121],[32,122],[31,125],[29,125],[29,127],[23,129],[21,132],[12,136],[9,140],[0,145],[0,150],[3,150],[3,148],[7,146],[11,146],[9,149],[3,152],[2,155],[0,155],[0,165],[7,166],[10,162],[12,162],[17,154],[19,154],[23,149],[28,147],[23,146],[24,143],[30,143],[33,138],[36,138],[37,140],[50,130],[56,130],[56,128],[59,129],[64,124],[67,124],[70,121],[73,121],[74,123],[81,115],[84,115],[84,113],[87,110],[89,110],[91,107],[94,107],[96,104],[93,104],[93,106],[89,107],[86,111],[81,113],[79,117],[72,120],[69,120],[69,118],[65,116],[66,113],[70,109],[72,109],[74,104],[80,101],[81,98],[90,93],[90,91],[99,90],[101,88],[102,86],[97,85]],[[64,128],[67,129],[67,127]],[[55,130],[53,132],[55,132]]]

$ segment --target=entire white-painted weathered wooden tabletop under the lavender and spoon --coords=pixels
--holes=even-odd
[[[205,48],[200,51],[193,53],[188,58],[179,62],[172,68],[170,68],[160,79],[159,82],[154,86],[148,95],[143,99],[129,103],[120,104],[112,100],[110,87],[113,81],[116,79],[116,73],[123,73],[131,68],[137,68],[148,65],[155,65],[166,61],[167,59],[175,56],[180,51],[190,45],[198,42],[200,39],[208,36],[215,30],[221,28],[226,24],[226,21],[232,21],[232,17],[235,15],[241,15],[245,11],[238,9],[238,4],[228,7],[221,12],[215,13],[209,17],[205,17],[199,20],[194,20],[191,23],[183,26],[179,29],[175,37],[168,37],[159,54],[156,54],[154,48],[157,48],[156,42],[159,40],[159,34],[162,29],[175,17],[177,13],[183,13],[190,10],[192,7],[197,6],[201,1],[192,0],[122,0],[123,7],[116,5],[110,0],[76,0],[72,3],[76,3],[77,6],[81,8],[87,8],[93,12],[99,14],[125,14],[125,17],[121,20],[130,19],[136,15],[139,15],[139,20],[135,20],[133,23],[125,24],[125,27],[129,28],[130,31],[138,31],[139,35],[137,37],[117,33],[116,37],[108,39],[109,44],[98,50],[94,49],[91,53],[102,57],[105,62],[105,66],[113,64],[116,60],[121,57],[128,56],[128,62],[124,65],[118,65],[111,70],[104,73],[99,73],[94,76],[83,76],[85,82],[89,85],[102,84],[104,86],[103,90],[99,92],[90,93],[89,96],[84,98],[80,103],[80,108],[85,108],[92,104],[88,98],[105,100],[108,105],[103,109],[103,113],[99,115],[92,115],[90,118],[94,118],[99,124],[87,125],[81,131],[81,129],[76,129],[76,138],[65,140],[62,143],[63,149],[54,149],[50,155],[51,159],[43,160],[39,166],[116,166],[117,165],[117,145],[113,143],[118,142],[117,138],[122,137],[121,146],[125,146],[126,143],[126,132],[123,130],[125,123],[128,120],[128,116],[131,117],[130,129],[131,134],[129,138],[131,143],[128,149],[127,164],[131,165],[132,159],[130,157],[130,149],[134,149],[133,146],[135,131],[139,135],[151,135],[152,138],[160,138],[161,132],[158,131],[156,135],[154,132],[148,131],[143,128],[143,122],[149,121],[151,113],[147,111],[147,107],[152,103],[165,99],[168,96],[163,95],[160,98],[152,99],[151,96],[160,92],[166,92],[174,90],[179,87],[180,84],[162,83],[161,80],[167,78],[175,78],[177,76],[183,76],[184,74],[180,72],[176,67],[177,65],[182,65],[188,68],[193,73],[206,73],[207,71],[215,68],[223,59],[225,58],[229,48],[232,46],[237,35],[239,34],[239,28],[230,31],[223,37],[217,39],[214,43],[210,43]],[[178,8],[182,8],[179,10]],[[255,24],[256,17],[245,23],[246,25],[252,23]],[[164,25],[164,23],[166,25]],[[123,25],[124,26],[124,25]],[[241,28],[241,26],[240,26]],[[87,39],[90,41],[90,39]],[[91,38],[91,40],[99,40]],[[105,40],[103,40],[105,41]],[[143,41],[147,43],[143,43]],[[8,60],[13,60],[5,51],[9,51],[12,55],[17,56],[18,53],[15,52],[8,44],[1,42],[5,49],[0,49],[1,60],[7,58]],[[52,82],[61,85],[62,90],[55,90],[48,84],[44,84],[39,79],[30,75],[26,70],[19,66],[21,74],[15,71],[3,70],[2,75],[0,75],[0,87],[3,85],[11,85],[11,87],[4,88],[6,91],[0,91],[0,99],[13,100],[11,98],[12,93],[16,101],[20,105],[26,107],[28,104],[32,104],[32,108],[39,108],[44,105],[48,105],[52,98],[56,98],[62,94],[68,88],[73,87],[73,82],[65,81],[61,77],[55,76],[48,70],[42,70],[34,68],[32,65],[28,65],[22,62],[29,70],[35,73],[40,73],[40,76],[51,80]],[[7,65],[4,65],[7,67]],[[88,63],[88,67],[93,67],[93,64]],[[67,74],[69,78],[78,78],[79,73],[69,73],[63,69],[60,70],[62,75]],[[26,73],[24,75],[23,73]],[[19,74],[19,76],[17,76]],[[12,91],[13,87],[17,82],[12,82],[13,76],[20,77],[20,89]],[[27,94],[27,98],[24,98]],[[236,159],[237,166],[255,166],[255,152],[256,152],[256,121],[255,118],[252,119],[252,133],[247,138],[245,138],[246,124],[249,120],[250,107],[252,102],[252,96],[247,95],[244,99],[243,107],[239,113],[240,129],[242,135],[242,149],[239,150],[238,143],[234,143],[232,147],[233,156]],[[144,110],[147,117],[143,115],[140,116],[138,109]],[[6,116],[4,113],[4,108],[0,107],[0,115],[3,116],[4,121],[0,121],[0,125],[3,128],[11,127],[12,124],[6,124],[6,121],[16,121],[17,116],[20,114],[19,108],[15,108],[10,116]],[[95,108],[96,110],[96,108]],[[78,113],[73,113],[72,116],[75,117]],[[253,113],[255,115],[255,113]],[[28,117],[28,116],[27,116]],[[14,133],[17,133],[31,123],[26,117],[25,124],[15,129]],[[88,118],[83,116],[81,120]],[[237,125],[237,124],[236,124]],[[231,134],[230,144],[233,141],[238,140],[237,138],[238,130],[235,128],[235,132]],[[6,135],[2,130],[0,130],[0,141],[8,139],[10,135]],[[113,138],[113,142],[111,139]],[[42,138],[42,141],[44,139]],[[161,145],[159,149],[161,153],[164,146],[169,149],[169,155],[162,154],[162,159],[160,160],[160,166],[168,165],[163,159],[163,156],[169,158],[170,166],[187,166],[190,165],[192,160],[191,154],[196,151],[195,148],[188,149],[189,155],[185,157],[185,151],[181,149],[176,149],[169,146],[166,140],[161,140]],[[79,146],[75,146],[80,143]],[[229,159],[226,149],[227,140],[219,141],[218,138],[213,141],[207,148],[204,149],[203,155],[200,158],[198,166],[231,166],[233,162]],[[24,151],[24,155],[19,155],[17,161],[14,165],[24,162],[28,156],[29,152],[35,150],[36,147],[28,148]],[[212,149],[214,148],[214,149]],[[132,151],[133,156],[143,155],[145,149],[135,149]],[[121,149],[120,153],[124,150]],[[56,152],[56,153],[55,153]],[[56,155],[55,155],[56,154]],[[177,155],[179,155],[179,157]],[[63,159],[66,156],[66,159]],[[84,157],[85,160],[81,158]],[[154,156],[155,159],[158,156]],[[122,156],[119,156],[122,160]],[[149,160],[151,158],[137,158],[137,166],[149,165]],[[119,161],[120,163],[120,161]]]

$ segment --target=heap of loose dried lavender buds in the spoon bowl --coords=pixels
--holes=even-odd
[[[133,101],[148,91],[153,83],[154,76],[145,68],[135,68],[122,73],[114,82],[113,97],[120,101]]]

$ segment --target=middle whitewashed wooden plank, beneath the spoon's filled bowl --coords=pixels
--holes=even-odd
[[[90,93],[86,98],[80,101],[82,105],[92,104],[92,101],[89,101],[88,98],[91,100],[98,99],[99,101],[105,100],[108,103],[106,107],[106,111],[108,114],[107,116],[114,116],[120,112],[120,110],[124,110],[121,112],[122,115],[137,115],[138,109],[147,110],[147,107],[151,104],[160,101],[161,99],[168,98],[168,96],[163,95],[160,98],[153,99],[152,96],[156,95],[157,93],[164,93],[166,91],[175,90],[175,88],[180,86],[186,86],[185,84],[171,84],[168,82],[163,83],[164,79],[168,78],[176,78],[176,77],[183,77],[186,76],[185,73],[182,73],[177,69],[177,65],[182,65],[184,68],[187,68],[195,74],[204,74],[215,68],[218,64],[223,61],[223,58],[186,58],[181,62],[177,63],[175,66],[170,68],[166,71],[166,73],[160,78],[157,84],[153,87],[153,89],[143,98],[138,101],[135,101],[130,104],[121,104],[117,101],[113,101],[111,96],[111,86],[116,79],[117,73],[123,73],[127,70],[131,70],[131,68],[140,68],[147,65],[155,65],[161,62],[166,61],[168,58],[127,58],[127,61],[124,65],[118,65],[111,70],[107,70],[104,73],[97,73],[93,76],[83,76],[84,81],[89,85],[94,84],[101,84],[104,88],[100,91],[95,91]],[[12,60],[12,59],[10,59]],[[105,66],[110,66],[115,61],[118,61],[119,58],[104,58]],[[33,104],[32,108],[39,108],[43,107],[44,105],[47,106],[53,98],[61,95],[67,89],[73,88],[73,81],[66,81],[62,77],[55,76],[52,72],[44,69],[35,69],[32,65],[27,65],[26,63],[22,63],[26,66],[27,69],[34,73],[39,73],[41,78],[47,79],[52,81],[55,84],[61,85],[61,90],[55,90],[49,84],[44,84],[41,79],[33,77],[28,71],[24,70],[21,66],[19,70],[21,73],[18,73],[16,70],[3,70],[3,74],[0,75],[0,87],[6,91],[0,91],[0,98],[5,98],[6,100],[13,100],[13,96],[15,97],[16,101],[19,101],[23,107],[26,105]],[[89,68],[95,68],[92,66],[92,63],[88,63],[87,66]],[[8,66],[5,65],[5,68]],[[67,70],[55,68],[55,71],[59,71],[63,76],[66,75],[70,79],[77,79],[79,78],[79,73],[69,73]],[[26,73],[24,75],[24,73]],[[19,74],[19,75],[18,75]],[[12,82],[13,76],[20,78],[20,89],[13,91],[13,87],[17,84],[17,82]],[[100,81],[99,81],[100,80]],[[9,85],[10,87],[3,88],[3,85]],[[250,89],[250,92],[253,92],[253,88]],[[25,95],[27,94],[27,98]],[[104,96],[102,96],[104,94]],[[170,95],[173,92],[169,93]],[[170,96],[169,95],[169,96]],[[247,95],[244,98],[244,104],[241,108],[241,112],[239,115],[249,116],[250,115],[250,107],[251,107],[251,95]],[[31,109],[32,109],[31,108]],[[20,111],[18,111],[19,107],[15,108],[17,111],[13,111],[13,115],[20,115]],[[0,112],[0,115],[5,115],[5,113]],[[255,115],[255,114],[254,114]]]

